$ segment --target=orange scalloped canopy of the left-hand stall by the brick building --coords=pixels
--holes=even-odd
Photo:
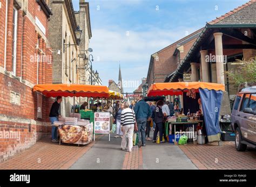
[[[33,91],[46,97],[105,97],[109,98],[109,88],[85,84],[37,84]]]

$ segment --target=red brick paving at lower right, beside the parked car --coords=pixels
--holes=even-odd
[[[245,152],[235,149],[234,141],[205,145],[179,145],[179,148],[199,169],[256,169],[256,149],[247,147]]]

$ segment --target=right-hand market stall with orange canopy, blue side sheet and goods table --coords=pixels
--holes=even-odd
[[[154,83],[151,85],[150,89],[148,90],[147,96],[168,96],[168,95],[185,95],[191,99],[196,99],[197,95],[200,97],[200,109],[203,113],[203,120],[204,125],[207,132],[207,138],[209,142],[212,141],[220,141],[220,127],[219,127],[219,112],[221,106],[221,99],[223,96],[223,92],[225,91],[224,84],[217,84],[217,83],[206,83],[206,82],[170,82],[170,83]],[[175,101],[174,101],[175,102]],[[189,102],[185,104],[190,104]],[[175,110],[175,107],[174,107]],[[187,115],[180,110],[180,114],[171,117],[168,119],[169,123],[174,125],[184,125],[184,124],[192,124],[192,127],[187,127],[188,133],[192,132],[193,137],[195,136],[194,125],[202,122],[200,117],[202,114],[199,112],[197,113],[190,113],[188,109]],[[177,123],[179,122],[179,124]],[[172,129],[172,125],[170,126]],[[201,126],[200,126],[201,127]],[[196,128],[200,130],[200,127]],[[174,127],[176,128],[176,126]],[[172,131],[170,131],[172,132]],[[169,132],[169,134],[170,134]],[[199,132],[200,135],[201,131]],[[174,130],[174,141],[176,141],[176,135],[178,133],[184,132],[177,132]],[[198,138],[200,136],[198,134]],[[193,138],[194,140],[194,138]]]

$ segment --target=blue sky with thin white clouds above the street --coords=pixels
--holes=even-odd
[[[92,38],[89,47],[103,85],[118,83],[133,92],[147,76],[150,56],[204,27],[206,22],[248,0],[89,0]],[[79,10],[79,0],[72,0]]]

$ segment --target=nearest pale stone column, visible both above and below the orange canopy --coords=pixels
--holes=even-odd
[[[224,77],[224,56],[223,56],[223,42],[221,32],[213,34],[215,40],[215,59],[216,59],[216,71],[217,71],[217,83],[225,84]],[[223,100],[221,102],[220,115],[231,114],[230,98],[228,92],[223,93]]]

